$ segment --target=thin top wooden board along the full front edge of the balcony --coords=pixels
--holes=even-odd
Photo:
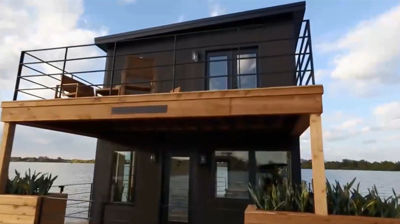
[[[107,96],[107,97],[83,97],[68,99],[49,99],[49,100],[20,100],[2,102],[2,108],[23,107],[23,106],[49,106],[49,105],[84,105],[84,104],[107,104],[107,103],[130,103],[130,102],[155,102],[155,101],[174,101],[174,100],[193,100],[193,99],[219,99],[234,97],[254,97],[254,96],[285,96],[317,94],[322,95],[324,88],[322,85],[308,86],[283,86],[253,89],[229,89],[224,91],[194,91],[179,93]]]

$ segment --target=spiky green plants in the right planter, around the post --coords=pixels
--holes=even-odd
[[[358,215],[386,218],[400,218],[400,206],[392,189],[393,196],[383,198],[379,195],[376,186],[368,189],[363,196],[359,192],[359,183],[352,188],[355,178],[341,186],[335,181],[330,184],[327,180],[328,213],[333,215]],[[314,195],[306,184],[301,186],[291,184],[272,184],[272,186],[253,187],[249,184],[249,191],[258,209],[292,212],[313,212]]]

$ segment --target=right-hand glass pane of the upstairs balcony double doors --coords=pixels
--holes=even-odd
[[[239,59],[239,63],[237,63],[237,83],[239,88],[256,88],[257,87],[257,66],[255,54],[241,54],[237,55]],[[248,59],[243,59],[248,58]],[[254,74],[254,75],[246,75],[246,74]]]

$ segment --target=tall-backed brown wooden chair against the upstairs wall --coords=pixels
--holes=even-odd
[[[140,91],[151,93],[154,86],[154,59],[127,56],[125,69],[121,73],[121,84],[112,87],[111,95],[127,95],[129,92]],[[136,68],[136,69],[135,69]],[[141,82],[144,83],[132,83]],[[110,95],[110,88],[96,90],[97,95]]]

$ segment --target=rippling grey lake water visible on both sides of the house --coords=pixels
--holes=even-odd
[[[53,175],[58,175],[54,182],[54,186],[83,184],[66,186],[65,193],[68,193],[69,199],[89,200],[90,198],[90,183],[93,181],[94,164],[69,164],[69,163],[10,163],[10,176],[15,175],[15,169],[24,174],[25,170],[37,170],[49,172]],[[360,190],[364,193],[368,192],[367,188],[376,185],[378,192],[382,196],[392,195],[392,188],[397,194],[400,194],[400,172],[387,171],[363,171],[363,170],[326,170],[326,176],[331,183],[335,180],[342,185],[350,182],[354,177],[357,177],[356,183],[361,182]],[[312,172],[308,169],[302,170],[302,179],[311,182]],[[355,186],[354,186],[355,187]],[[53,188],[53,192],[59,192],[58,187]],[[72,217],[87,217],[89,203],[83,201],[68,201],[67,216]],[[76,204],[80,203],[80,204]],[[68,218],[68,221],[76,221],[79,219]],[[81,219],[82,220],[82,219]]]

